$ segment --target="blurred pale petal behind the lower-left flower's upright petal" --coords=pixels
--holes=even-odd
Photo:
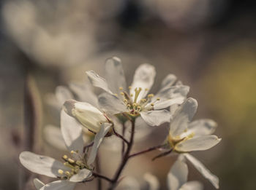
[[[64,138],[61,134],[61,129],[59,127],[55,127],[51,124],[48,124],[44,128],[44,137],[45,137],[45,140],[55,148],[61,149],[63,151],[67,150],[67,147],[65,146]]]

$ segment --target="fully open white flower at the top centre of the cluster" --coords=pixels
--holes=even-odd
[[[135,71],[129,92],[119,58],[108,59],[105,63],[105,70],[107,80],[94,71],[86,72],[91,84],[106,91],[99,95],[99,106],[103,111],[110,114],[140,115],[151,126],[170,122],[170,111],[163,108],[181,104],[189,92],[189,87],[179,84],[180,82],[176,83],[176,76],[169,74],[163,80],[157,95],[148,95],[154,83],[156,71],[154,66],[146,63],[140,65]]]

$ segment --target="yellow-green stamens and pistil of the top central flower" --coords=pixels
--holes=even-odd
[[[132,87],[129,87],[129,90],[131,90]],[[127,92],[123,91],[123,87],[119,87],[120,95],[123,97],[123,102],[127,106],[127,109],[129,111],[129,114],[132,115],[138,115],[140,114],[140,111],[151,111],[154,110],[154,103],[160,100],[160,98],[157,98],[153,102],[151,101],[154,97],[154,94],[147,95],[146,98],[142,98],[138,100],[138,96],[140,95],[140,92],[142,92],[142,88],[135,88],[135,92],[128,94]],[[145,89],[145,91],[148,91],[148,89]],[[134,97],[134,98],[133,98]]]

